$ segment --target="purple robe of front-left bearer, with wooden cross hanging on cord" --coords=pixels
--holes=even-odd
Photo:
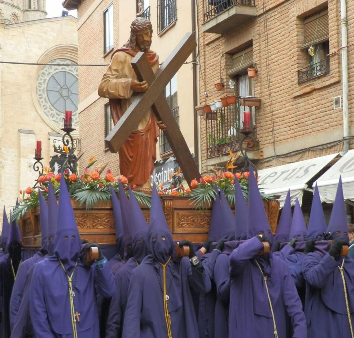
[[[101,261],[98,261],[101,262]],[[99,337],[96,294],[112,297],[114,280],[107,261],[85,268],[79,263],[73,276],[78,337]],[[76,312],[75,311],[75,312]],[[36,338],[72,337],[68,281],[56,256],[35,265],[30,291],[30,316]]]

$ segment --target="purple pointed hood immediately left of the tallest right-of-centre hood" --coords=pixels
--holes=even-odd
[[[235,240],[247,239],[248,206],[240,183],[235,178]]]

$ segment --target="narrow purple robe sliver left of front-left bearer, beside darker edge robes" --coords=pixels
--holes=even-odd
[[[25,288],[25,283],[27,279],[27,273],[29,269],[33,266],[33,264],[41,261],[45,257],[44,252],[38,251],[36,254],[25,260],[18,268],[16,280],[13,284],[13,289],[11,293],[10,299],[10,327],[11,330],[13,325],[15,324],[16,316],[18,313],[18,309],[21,305],[22,296]]]

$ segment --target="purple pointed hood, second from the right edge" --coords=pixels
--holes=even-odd
[[[327,231],[325,214],[323,213],[320,194],[317,183],[313,194],[309,223],[307,225],[306,239],[322,239],[323,233]]]

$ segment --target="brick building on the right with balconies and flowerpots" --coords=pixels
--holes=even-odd
[[[230,80],[238,96],[236,104],[200,118],[202,170],[224,165],[228,151],[238,149],[243,112],[250,111],[256,142],[248,155],[258,170],[334,155],[304,182],[311,188],[340,158],[344,143],[352,148],[343,137],[354,131],[354,2],[347,1],[346,11],[349,134],[343,134],[340,1],[199,0],[198,13],[200,104],[233,94]],[[251,67],[254,78],[247,76]],[[221,81],[220,92],[215,83]],[[246,96],[260,99],[252,103],[259,106],[247,106],[239,98]],[[305,192],[306,210],[311,199]]]

